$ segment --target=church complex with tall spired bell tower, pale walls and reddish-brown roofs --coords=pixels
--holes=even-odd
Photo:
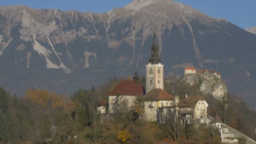
[[[208,104],[201,96],[188,96],[179,98],[164,91],[164,65],[159,57],[159,47],[156,42],[156,35],[153,35],[151,56],[146,65],[146,89],[139,82],[139,75],[134,73],[133,80],[122,80],[110,91],[108,96],[108,107],[101,109],[99,113],[124,113],[133,109],[136,100],[140,98],[144,104],[144,115],[147,121],[161,123],[162,113],[168,110],[176,111],[181,117],[182,123],[190,123],[196,120],[204,123],[207,118]],[[179,100],[180,99],[180,100]],[[161,118],[161,120],[160,120]]]

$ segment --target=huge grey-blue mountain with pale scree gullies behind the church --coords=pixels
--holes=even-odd
[[[145,75],[156,32],[165,77],[184,67],[221,72],[256,108],[256,35],[171,0],[134,0],[107,13],[0,7],[0,85],[73,93],[108,77]]]

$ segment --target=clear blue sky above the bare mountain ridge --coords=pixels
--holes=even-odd
[[[0,5],[27,5],[36,9],[104,13],[132,0],[0,0]],[[176,0],[209,16],[224,18],[239,27],[256,26],[256,0]]]

